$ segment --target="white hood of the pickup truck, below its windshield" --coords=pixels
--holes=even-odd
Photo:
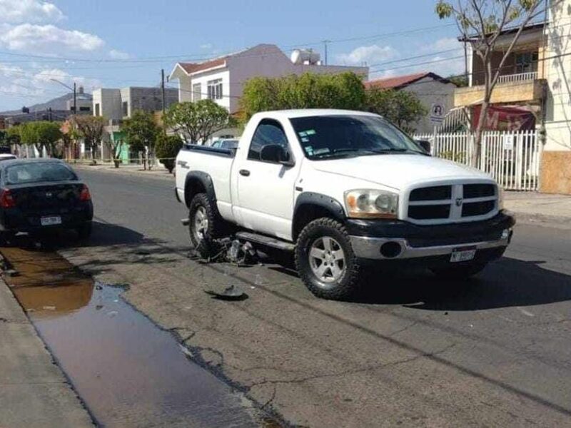
[[[395,189],[416,182],[450,179],[485,179],[480,170],[445,159],[418,155],[377,155],[313,161],[313,168],[325,173],[367,180]]]

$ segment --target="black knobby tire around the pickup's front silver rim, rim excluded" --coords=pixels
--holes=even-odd
[[[335,282],[323,282],[310,266],[311,245],[320,237],[337,241],[345,255],[345,270]],[[305,225],[295,245],[295,268],[306,287],[317,297],[328,300],[348,300],[360,287],[360,266],[345,226],[333,218],[318,218]]]

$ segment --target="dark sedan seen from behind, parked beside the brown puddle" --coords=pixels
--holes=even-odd
[[[94,215],[89,188],[57,159],[0,162],[0,233],[75,229],[91,235]]]

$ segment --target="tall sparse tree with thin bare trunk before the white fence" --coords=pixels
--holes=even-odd
[[[561,0],[550,1],[552,6]],[[482,61],[484,94],[480,109],[480,118],[475,129],[473,156],[471,164],[480,164],[482,151],[482,131],[484,130],[487,110],[490,106],[492,91],[502,73],[507,59],[520,39],[525,26],[545,12],[545,0],[438,0],[435,12],[440,19],[454,19],[463,40],[469,43],[473,53]],[[510,43],[497,47],[502,31],[510,28]],[[500,62],[492,68],[492,54],[501,54]]]

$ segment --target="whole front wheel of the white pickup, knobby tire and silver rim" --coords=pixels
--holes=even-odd
[[[295,267],[310,292],[345,300],[358,290],[360,269],[345,226],[318,218],[305,226],[295,245]]]

